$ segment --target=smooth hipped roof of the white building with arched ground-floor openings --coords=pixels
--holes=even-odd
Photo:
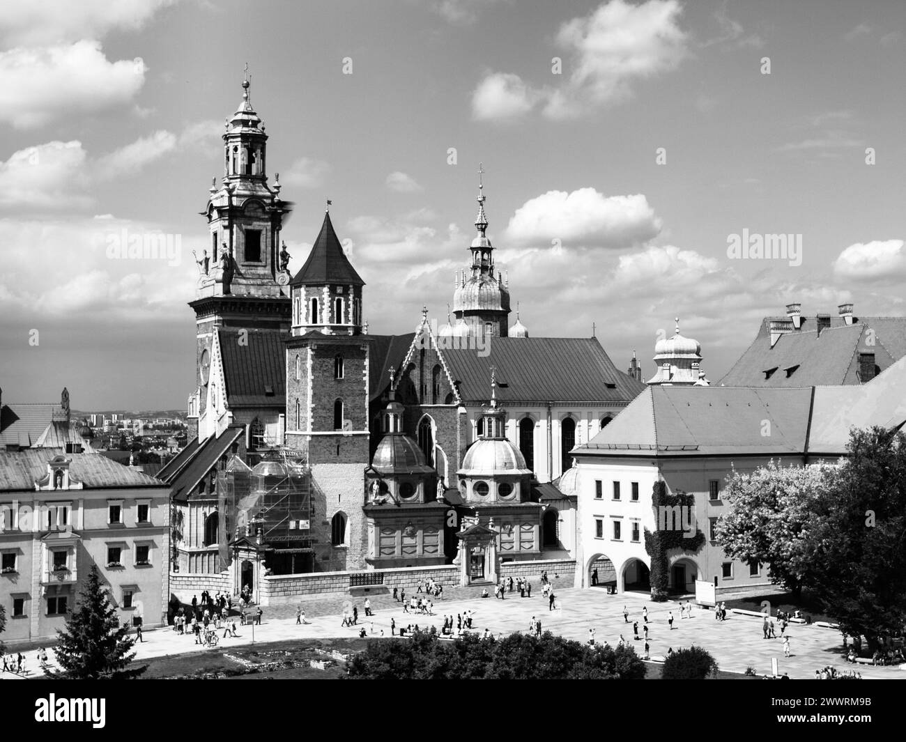
[[[805,450],[812,390],[651,386],[576,454],[701,456]]]

